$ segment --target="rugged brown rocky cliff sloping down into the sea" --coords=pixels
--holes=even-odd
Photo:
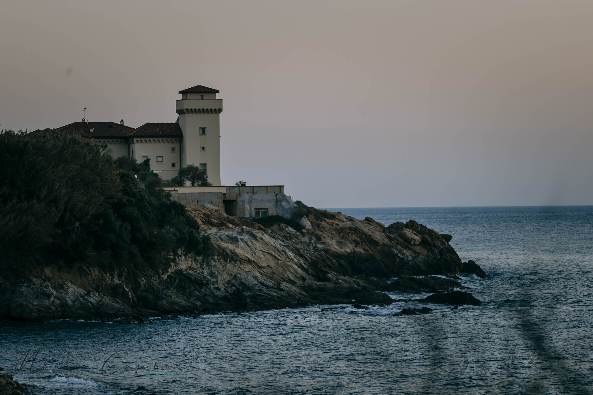
[[[4,274],[0,317],[110,319],[352,303],[393,277],[486,277],[474,262],[461,262],[451,236],[415,221],[385,227],[369,217],[311,209],[301,221],[307,227],[296,230],[190,211],[209,237],[202,255],[185,254],[167,271],[141,276],[83,264],[43,265],[26,279]]]

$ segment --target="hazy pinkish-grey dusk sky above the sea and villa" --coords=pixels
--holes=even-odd
[[[315,207],[593,204],[593,2],[0,0],[0,127],[174,122]]]

